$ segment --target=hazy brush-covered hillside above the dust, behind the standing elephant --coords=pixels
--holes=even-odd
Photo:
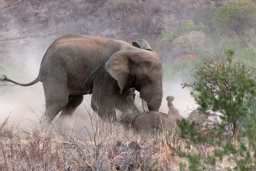
[[[68,33],[127,42],[144,38],[162,62],[174,68],[207,59],[206,51],[223,54],[225,49],[253,66],[255,11],[251,0],[1,0],[1,67],[12,48],[25,53],[24,47],[33,42],[46,49]]]

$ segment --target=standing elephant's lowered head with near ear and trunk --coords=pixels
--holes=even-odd
[[[163,97],[163,68],[157,54],[148,50],[124,50],[112,55],[106,71],[117,80],[120,93],[136,88],[148,109],[158,111]]]

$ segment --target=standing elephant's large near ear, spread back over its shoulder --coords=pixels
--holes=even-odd
[[[129,78],[130,63],[138,56],[139,53],[137,51],[117,51],[105,64],[105,70],[111,75],[111,77],[117,80],[120,88],[120,94],[122,94]]]

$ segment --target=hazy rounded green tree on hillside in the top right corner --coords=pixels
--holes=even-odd
[[[256,24],[256,4],[251,0],[231,0],[218,8],[214,25],[221,34],[235,33],[239,37]]]

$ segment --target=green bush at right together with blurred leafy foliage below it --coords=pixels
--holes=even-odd
[[[178,123],[181,137],[189,137],[188,148],[192,144],[214,145],[213,152],[204,158],[199,154],[178,152],[189,160],[191,170],[216,170],[217,161],[223,158],[234,161],[234,167],[227,167],[227,170],[256,168],[256,70],[239,59],[232,62],[233,51],[228,50],[225,54],[226,57],[215,55],[203,61],[200,69],[193,70],[194,83],[183,84],[183,87],[196,90],[192,94],[200,112],[219,113],[222,119],[216,129],[207,130],[205,135],[193,129],[193,123],[186,120]],[[230,124],[233,140],[224,141],[225,128]]]

